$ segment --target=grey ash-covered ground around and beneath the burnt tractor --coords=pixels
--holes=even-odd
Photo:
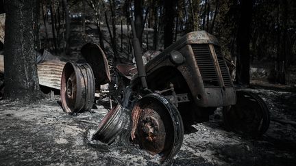
[[[164,165],[296,165],[296,126],[274,121],[295,121],[295,92],[249,90],[259,94],[271,111],[265,135],[252,139],[226,131],[217,110],[209,122],[186,131],[180,152]],[[138,146],[90,141],[108,112],[102,105],[77,115],[64,113],[58,100],[34,105],[2,100],[0,105],[0,165],[160,164],[160,156],[151,156]]]

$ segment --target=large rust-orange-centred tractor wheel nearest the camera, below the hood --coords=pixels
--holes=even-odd
[[[162,161],[179,152],[184,128],[177,108],[158,94],[141,98],[132,111],[132,140]]]

